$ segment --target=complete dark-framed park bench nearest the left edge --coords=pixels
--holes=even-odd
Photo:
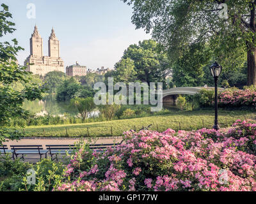
[[[13,150],[13,157],[18,158],[19,155],[22,155],[22,159],[24,159],[24,155],[39,155],[40,159],[42,159],[42,155],[47,157],[47,152],[49,150],[44,150],[42,145],[10,145]]]

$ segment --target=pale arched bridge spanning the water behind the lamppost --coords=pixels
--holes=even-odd
[[[214,89],[214,87],[176,87],[172,89],[163,90],[163,105],[173,106],[179,94],[183,95],[195,95],[199,93],[202,89]],[[224,91],[223,88],[218,88],[219,91]]]

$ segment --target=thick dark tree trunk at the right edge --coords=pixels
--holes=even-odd
[[[247,84],[256,85],[256,48],[248,49],[247,62],[248,62]]]

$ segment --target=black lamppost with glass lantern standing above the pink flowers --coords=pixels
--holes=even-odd
[[[218,77],[221,74],[222,67],[217,63],[214,62],[210,68],[212,77],[214,77],[214,82],[215,82],[215,120],[214,120],[214,126],[213,129],[220,129],[220,126],[218,124],[218,87],[217,87],[217,82],[218,82]]]

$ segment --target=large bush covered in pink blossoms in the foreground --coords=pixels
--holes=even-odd
[[[54,191],[256,191],[256,124],[215,131],[127,131],[105,152],[83,145]]]

